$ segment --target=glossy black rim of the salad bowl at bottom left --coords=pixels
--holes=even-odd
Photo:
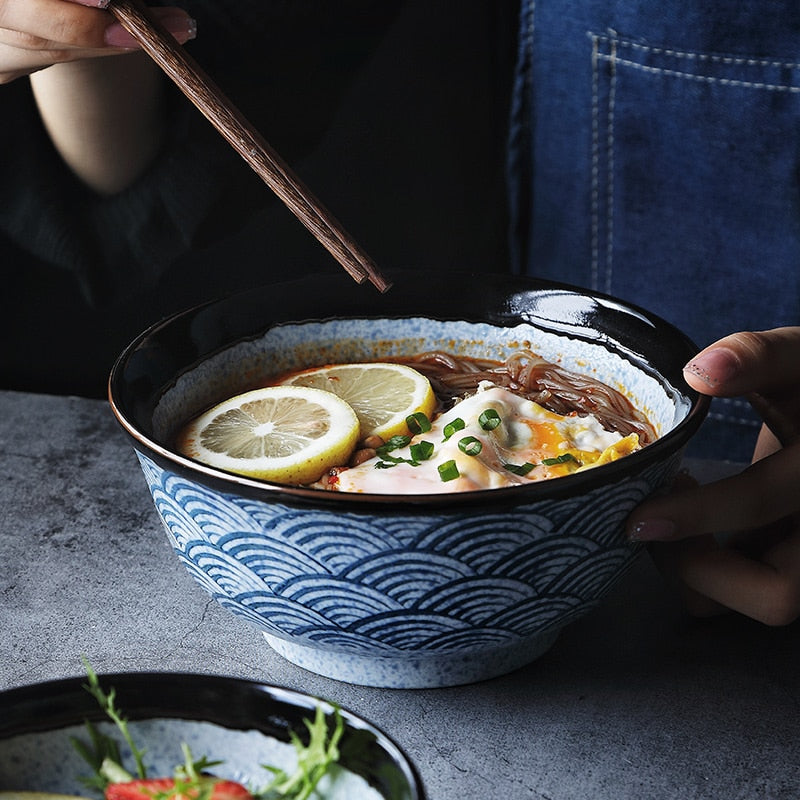
[[[242,678],[176,672],[111,673],[98,678],[106,691],[114,687],[130,720],[211,722],[288,742],[290,731],[304,736],[303,720],[313,718],[317,705],[333,712],[333,706],[320,698]],[[0,692],[0,747],[3,739],[23,733],[106,719],[85,685],[85,678],[64,678]],[[356,714],[346,709],[340,713],[345,732],[339,763],[387,800],[425,800],[422,780],[399,745]]]

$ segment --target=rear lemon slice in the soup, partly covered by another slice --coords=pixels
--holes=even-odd
[[[335,364],[305,370],[285,383],[337,394],[358,415],[363,438],[408,434],[406,417],[421,411],[430,418],[436,407],[428,379],[403,364]]]

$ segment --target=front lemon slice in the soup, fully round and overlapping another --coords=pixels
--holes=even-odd
[[[178,450],[205,464],[276,483],[307,484],[346,464],[358,417],[331,392],[269,386],[225,400],[192,420]]]

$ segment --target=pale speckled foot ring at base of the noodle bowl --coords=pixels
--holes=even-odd
[[[332,652],[264,634],[270,647],[298,667],[358,686],[384,689],[433,689],[497,678],[544,655],[558,638],[558,629],[523,642],[487,647],[480,653],[363,656]]]

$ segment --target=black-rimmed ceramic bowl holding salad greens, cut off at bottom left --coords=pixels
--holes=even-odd
[[[329,703],[277,686],[222,676],[180,673],[100,675],[105,692],[116,692],[116,705],[129,720],[134,743],[144,750],[149,777],[173,774],[183,763],[181,744],[195,758],[222,763],[220,778],[263,788],[272,775],[264,764],[292,774],[297,754],[290,732],[304,741],[305,720],[319,706],[328,730],[334,727]],[[33,684],[0,692],[0,791],[51,792],[99,797],[83,782],[91,768],[72,738],[89,745],[84,726],[91,720],[121,748],[126,766],[130,753],[113,723],[84,688],[85,678]],[[415,768],[382,731],[341,709],[344,732],[338,768],[319,784],[320,800],[423,800]],[[31,796],[33,797],[33,796]]]

